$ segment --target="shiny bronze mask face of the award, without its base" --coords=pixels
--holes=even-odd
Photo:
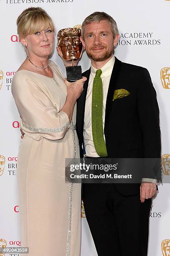
[[[80,34],[71,31],[63,33],[59,47],[65,61],[80,59],[83,50]]]

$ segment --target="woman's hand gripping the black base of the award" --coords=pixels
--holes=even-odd
[[[82,77],[76,82],[70,83],[67,81],[67,79],[64,79],[64,82],[67,86],[67,98],[70,98],[71,100],[76,102],[76,100],[80,97],[81,93],[83,92],[83,85],[86,80],[86,77]]]

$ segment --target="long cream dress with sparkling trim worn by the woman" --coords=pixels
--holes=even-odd
[[[63,74],[49,61],[53,78],[21,70],[12,94],[25,136],[18,153],[17,182],[23,256],[79,256],[81,184],[65,183],[65,158],[79,158],[75,131],[60,111],[66,102]]]

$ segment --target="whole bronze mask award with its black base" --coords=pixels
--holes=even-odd
[[[82,78],[81,66],[74,66],[74,60],[81,58],[83,45],[80,41],[80,28],[63,28],[58,32],[58,47],[64,61],[72,61],[72,67],[66,67],[67,80],[74,82]]]

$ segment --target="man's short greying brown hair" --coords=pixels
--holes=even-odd
[[[84,38],[84,29],[88,24],[90,24],[92,22],[99,23],[101,20],[106,20],[110,24],[110,27],[111,27],[114,38],[117,34],[119,34],[119,31],[118,31],[118,28],[117,28],[117,23],[109,14],[104,13],[104,12],[95,12],[95,13],[90,14],[83,21],[82,26],[81,26],[81,36],[82,36],[82,38]]]

